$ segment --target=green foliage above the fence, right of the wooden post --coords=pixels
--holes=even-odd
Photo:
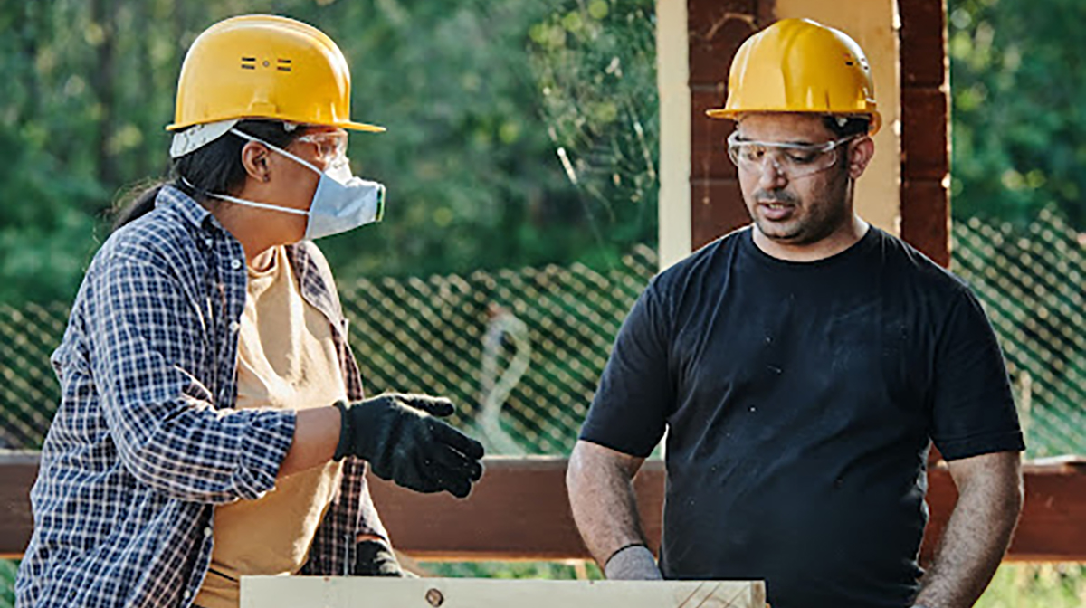
[[[1086,3],[949,0],[956,217],[1023,224],[1056,203],[1086,228]]]

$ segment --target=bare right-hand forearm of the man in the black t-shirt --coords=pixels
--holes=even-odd
[[[1016,455],[1015,455],[1016,458]],[[981,597],[1010,544],[1022,508],[1021,473],[1007,463],[990,474],[959,483],[958,504],[924,575],[915,604],[969,608]]]

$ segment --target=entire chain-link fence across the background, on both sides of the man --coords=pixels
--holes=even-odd
[[[1086,249],[1052,212],[1026,227],[956,223],[954,269],[999,334],[1028,456],[1086,453]],[[565,454],[619,326],[657,268],[637,246],[580,264],[340,286],[367,391],[451,397],[491,454]],[[0,306],[0,447],[41,444],[65,304]]]

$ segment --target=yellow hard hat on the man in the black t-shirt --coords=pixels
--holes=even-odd
[[[732,61],[728,101],[706,112],[735,118],[745,112],[869,115],[882,125],[863,49],[843,31],[810,20],[781,20],[746,39]]]

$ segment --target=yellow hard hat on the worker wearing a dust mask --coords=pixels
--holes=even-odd
[[[274,15],[231,17],[197,37],[166,130],[237,118],[384,130],[351,121],[351,72],[336,42]]]

